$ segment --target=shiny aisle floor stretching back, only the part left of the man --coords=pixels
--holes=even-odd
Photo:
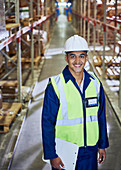
[[[67,22],[66,16],[60,15],[55,26],[49,49],[45,54],[45,64],[39,81],[36,83],[33,91],[34,99],[28,108],[28,115],[14,155],[10,168],[11,170],[48,169],[48,166],[41,160],[41,111],[44,90],[48,83],[48,78],[60,73],[66,65],[64,54],[62,54],[63,45],[65,40],[73,34],[74,30],[71,23]]]

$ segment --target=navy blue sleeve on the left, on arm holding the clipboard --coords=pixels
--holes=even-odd
[[[58,157],[55,151],[55,124],[59,108],[59,100],[51,82],[45,90],[43,111],[42,111],[42,140],[44,159]]]

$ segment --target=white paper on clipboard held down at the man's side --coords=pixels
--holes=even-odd
[[[71,142],[56,138],[56,153],[64,163],[66,170],[75,170],[79,146]],[[43,161],[50,163],[49,160]]]

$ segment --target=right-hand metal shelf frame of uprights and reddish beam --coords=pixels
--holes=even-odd
[[[106,30],[109,29],[111,32],[113,32],[114,34],[114,52],[113,52],[113,56],[115,56],[115,48],[116,48],[116,36],[117,34],[119,34],[119,36],[121,37],[121,29],[117,27],[117,24],[121,24],[121,20],[117,19],[117,0],[115,1],[115,18],[106,18],[106,0],[104,1],[104,21],[99,21],[96,18],[96,0],[93,0],[94,2],[94,17],[90,17],[90,0],[80,0],[77,1],[76,6],[74,6],[73,8],[73,26],[76,28],[77,33],[79,33],[81,36],[83,36],[85,38],[85,24],[88,25],[88,31],[87,31],[87,41],[88,43],[90,42],[90,27],[93,28],[93,44],[94,44],[94,53],[95,53],[95,45],[96,45],[96,33],[97,29],[100,29],[103,31],[103,72],[102,72],[102,78],[105,79],[105,71],[106,71],[106,67],[105,67],[105,46],[106,46],[106,41],[107,41],[107,35],[106,35]],[[88,4],[88,12],[87,12],[87,16],[85,14],[85,3]],[[78,7],[81,6],[78,10]],[[80,20],[80,22],[78,21]],[[114,21],[114,26],[107,24],[106,20],[113,20]],[[85,23],[86,21],[86,23]],[[80,23],[80,27],[78,25],[78,23]],[[96,28],[97,27],[97,28]],[[98,33],[99,34],[99,33]],[[98,35],[98,42],[99,43],[99,35]],[[121,55],[121,54],[120,54]],[[120,61],[121,62],[121,61]],[[120,64],[121,65],[121,64]],[[121,70],[121,69],[120,69]],[[121,71],[120,71],[120,87],[119,87],[119,107],[121,108]]]

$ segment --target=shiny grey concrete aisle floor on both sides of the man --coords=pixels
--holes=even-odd
[[[49,49],[45,54],[45,62],[39,80],[33,91],[33,101],[29,105],[29,111],[18,142],[11,170],[49,170],[48,164],[42,161],[42,137],[41,137],[41,112],[44,98],[44,90],[48,83],[48,77],[62,71],[66,62],[62,49],[64,42],[75,34],[70,22],[64,15],[60,15],[56,23]],[[114,111],[107,101],[107,126],[110,147],[107,149],[107,159],[99,170],[121,170],[121,127],[115,117]]]

